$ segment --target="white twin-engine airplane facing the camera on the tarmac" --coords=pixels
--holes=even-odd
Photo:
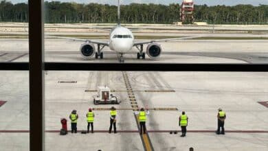
[[[107,42],[98,41],[98,40],[88,40],[88,39],[80,39],[80,38],[69,38],[69,37],[61,37],[61,36],[49,36],[54,38],[63,38],[68,40],[77,40],[84,42],[80,46],[80,54],[85,59],[95,58],[102,59],[104,47],[109,47],[111,50],[116,51],[120,54],[120,62],[124,62],[123,54],[127,54],[132,50],[133,47],[136,47],[139,52],[137,52],[137,59],[145,59],[144,53],[144,45],[148,45],[146,48],[146,54],[151,58],[159,58],[161,51],[161,45],[157,42],[166,42],[170,40],[181,40],[181,39],[190,39],[190,38],[198,38],[200,36],[191,36],[191,37],[181,37],[181,38],[168,38],[168,39],[160,39],[160,40],[148,40],[148,41],[135,41],[134,35],[126,27],[122,27],[120,23],[120,0],[118,0],[118,23],[115,27],[110,30],[109,40]],[[97,51],[95,45],[97,45]]]

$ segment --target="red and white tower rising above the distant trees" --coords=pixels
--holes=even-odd
[[[182,24],[192,24],[194,23],[194,1],[193,0],[183,0],[181,3],[181,23]]]

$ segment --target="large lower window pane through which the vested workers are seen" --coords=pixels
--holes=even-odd
[[[267,148],[268,113],[267,104],[261,102],[268,100],[267,75],[249,72],[47,71],[45,148],[144,150],[149,146],[155,150],[188,150],[190,147],[200,150],[263,150]],[[101,104],[113,99],[107,96],[107,100],[101,100],[98,97],[105,97],[102,92],[107,89],[120,104]],[[98,105],[94,104],[94,99]],[[117,109],[118,134],[109,134],[111,106]],[[148,135],[144,137],[139,135],[139,122],[133,111],[142,107],[149,109],[146,117]],[[95,114],[94,133],[90,128],[84,135],[81,131],[87,132],[89,108],[93,108]],[[219,108],[226,114],[226,134],[221,136],[215,134]],[[70,131],[69,115],[73,110],[78,114],[77,134]],[[194,146],[181,145],[183,138],[178,130],[181,130],[179,115],[182,111],[189,118],[186,139],[194,137],[191,141]],[[59,135],[62,118],[67,119],[67,136]],[[259,119],[257,123],[252,122],[256,119]],[[147,147],[142,143],[145,137],[151,142],[146,144]],[[230,140],[230,137],[236,139]],[[247,141],[241,141],[244,139]],[[230,142],[236,146],[230,146]]]

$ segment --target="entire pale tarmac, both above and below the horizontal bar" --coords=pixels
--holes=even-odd
[[[0,39],[1,62],[27,62],[27,40]],[[48,62],[118,62],[107,50],[103,60],[84,60],[81,43],[45,40]],[[157,60],[125,62],[267,63],[267,40],[183,40],[161,43]],[[221,46],[221,47],[219,47]],[[45,150],[268,150],[268,73],[45,71]],[[120,98],[118,133],[109,134],[112,105],[93,105],[98,86],[107,85]],[[134,99],[134,100],[133,100]],[[2,103],[1,103],[2,102]],[[260,104],[259,102],[263,102]],[[29,150],[29,73],[0,71],[1,150]],[[133,105],[134,104],[134,105]],[[148,107],[148,135],[139,135],[136,107]],[[86,130],[87,108],[95,108],[93,134]],[[226,112],[225,135],[216,135],[217,109]],[[60,118],[78,111],[77,134],[59,135]],[[189,117],[180,137],[179,115]],[[68,130],[70,123],[68,122]],[[172,134],[170,134],[170,131]],[[174,132],[177,134],[174,134]]]

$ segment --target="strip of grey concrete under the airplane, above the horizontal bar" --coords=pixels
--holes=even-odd
[[[0,39],[0,62],[27,62],[25,39]],[[118,55],[104,48],[104,59],[85,60],[79,54],[82,43],[71,40],[45,40],[47,62],[118,62]],[[175,63],[262,63],[268,62],[267,40],[176,40],[161,43],[163,52],[155,60],[137,60],[137,49],[125,54],[125,62]]]

